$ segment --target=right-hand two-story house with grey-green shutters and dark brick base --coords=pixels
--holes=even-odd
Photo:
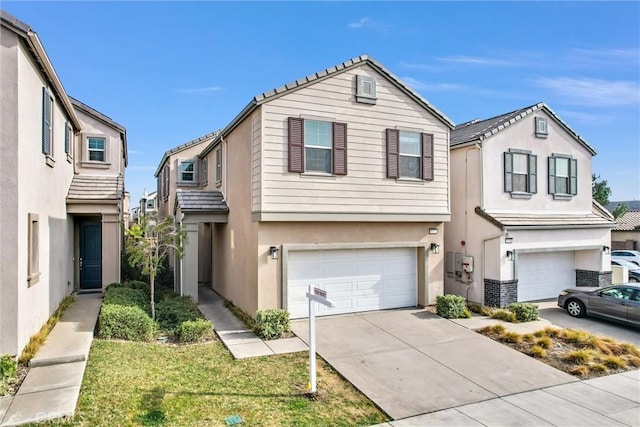
[[[592,201],[595,154],[543,103],[456,126],[446,292],[505,306],[610,284],[614,222]]]

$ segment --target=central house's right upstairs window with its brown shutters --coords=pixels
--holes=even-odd
[[[387,129],[387,177],[433,180],[433,135]]]

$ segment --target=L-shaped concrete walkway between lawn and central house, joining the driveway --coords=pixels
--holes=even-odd
[[[222,298],[210,288],[199,288],[198,308],[204,317],[213,322],[218,337],[235,359],[295,353],[309,349],[298,337],[261,340],[224,306]]]

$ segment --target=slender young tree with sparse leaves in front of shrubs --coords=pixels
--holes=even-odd
[[[162,260],[173,252],[178,259],[182,258],[187,234],[173,218],[158,220],[153,216],[141,216],[137,224],[132,224],[125,231],[126,248],[129,252],[129,264],[142,268],[143,274],[149,275],[151,291],[151,318],[155,320],[154,300],[155,278]]]

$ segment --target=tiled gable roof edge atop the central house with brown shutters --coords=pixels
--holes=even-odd
[[[291,83],[287,83],[286,85],[277,87],[275,89],[271,89],[267,92],[263,92],[259,95],[253,97],[253,99],[247,104],[247,106],[229,123],[211,143],[200,153],[200,157],[204,157],[209,153],[213,147],[215,147],[219,140],[222,137],[227,136],[235,127],[241,123],[251,112],[257,108],[259,105],[262,105],[266,102],[271,101],[272,99],[279,98],[287,93],[296,91],[303,87],[314,84],[318,81],[322,81],[334,74],[341,73],[343,71],[349,70],[351,68],[358,67],[362,64],[367,64],[371,66],[373,69],[378,71],[380,74],[386,76],[389,81],[395,84],[400,90],[402,90],[405,94],[407,94],[410,98],[416,101],[418,104],[422,105],[423,108],[430,111],[433,115],[438,117],[443,123],[445,123],[450,128],[454,127],[453,121],[449,119],[442,111],[438,110],[436,107],[431,105],[429,101],[422,97],[419,93],[414,91],[410,86],[400,80],[395,74],[393,74],[389,69],[387,69],[384,65],[370,57],[369,55],[360,55],[355,58],[351,58],[345,62],[342,62],[333,67],[326,68],[322,71],[318,71],[317,73],[308,75],[307,77],[303,77],[301,79],[295,80]]]

